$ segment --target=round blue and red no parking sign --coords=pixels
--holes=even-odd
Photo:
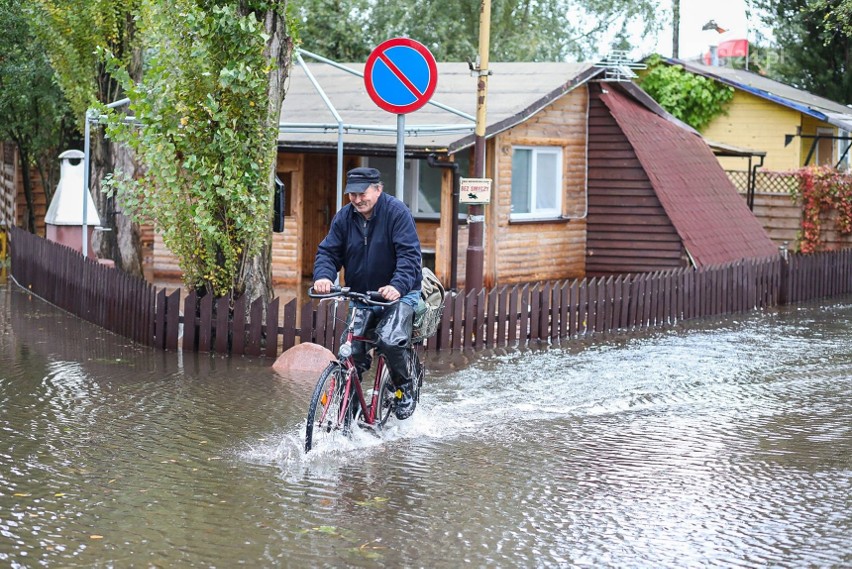
[[[410,38],[389,39],[367,58],[364,84],[380,108],[398,115],[411,113],[432,98],[438,86],[438,65],[422,43]]]

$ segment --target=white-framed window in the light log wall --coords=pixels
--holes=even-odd
[[[548,219],[562,215],[562,148],[515,146],[512,149],[512,219]]]

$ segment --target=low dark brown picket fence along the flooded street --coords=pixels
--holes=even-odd
[[[300,342],[335,350],[345,304],[167,295],[61,245],[12,230],[12,274],[57,306],[161,349],[275,357]],[[702,269],[449,294],[425,349],[469,350],[663,327],[852,293],[852,249]],[[182,310],[181,310],[182,308]],[[187,316],[191,315],[191,316]]]

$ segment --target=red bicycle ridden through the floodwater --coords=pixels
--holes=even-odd
[[[328,294],[315,293],[311,288],[308,296],[321,300],[334,299],[335,302],[348,300],[349,310],[346,320],[346,340],[338,349],[337,360],[329,363],[320,375],[311,396],[305,428],[305,452],[309,452],[318,445],[330,443],[337,436],[350,436],[352,424],[356,421],[361,426],[380,430],[396,409],[397,399],[401,395],[397,393],[391,381],[390,368],[384,354],[380,352],[375,358],[372,393],[365,394],[352,356],[353,341],[375,344],[371,338],[356,336],[354,333],[355,311],[359,309],[356,302],[367,306],[392,306],[399,300],[388,302],[378,292],[364,294],[348,287],[337,286],[332,287]],[[337,313],[336,306],[334,312]],[[423,385],[423,365],[414,348],[411,348],[411,355],[409,362],[413,367],[412,377],[415,378],[412,395],[415,401],[419,401],[420,388]]]

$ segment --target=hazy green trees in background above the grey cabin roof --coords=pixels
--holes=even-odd
[[[655,0],[492,0],[492,61],[561,61],[625,49],[628,26],[660,29]],[[305,49],[338,61],[364,61],[395,36],[426,45],[439,61],[479,51],[480,2],[461,0],[294,0]]]

